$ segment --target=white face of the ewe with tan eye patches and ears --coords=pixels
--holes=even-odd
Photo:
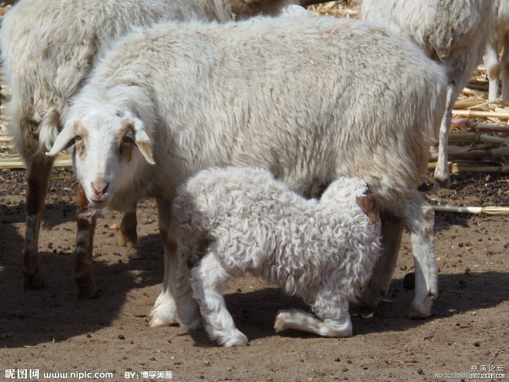
[[[127,107],[95,104],[68,114],[46,155],[73,148],[74,172],[96,208],[108,205],[117,190],[132,185],[138,167],[154,164],[144,122]]]

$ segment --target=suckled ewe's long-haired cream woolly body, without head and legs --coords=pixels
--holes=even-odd
[[[247,164],[303,194],[317,179],[362,176],[390,206],[421,180],[443,80],[418,49],[359,21],[171,22],[121,40],[67,121],[131,107],[157,163],[140,183],[170,200],[203,168]],[[118,196],[144,196],[134,191]]]

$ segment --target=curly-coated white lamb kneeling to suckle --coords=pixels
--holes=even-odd
[[[375,197],[364,181],[340,177],[317,201],[291,192],[268,170],[204,170],[179,187],[172,219],[177,312],[186,328],[200,321],[197,302],[212,339],[245,345],[221,288],[250,272],[300,296],[318,316],[279,311],[276,331],[352,335],[349,303],[360,297],[381,253]]]

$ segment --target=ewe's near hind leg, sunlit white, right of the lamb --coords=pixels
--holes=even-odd
[[[415,292],[407,318],[425,318],[431,314],[433,300],[438,295],[437,260],[433,248],[434,212],[415,190],[400,203],[401,213],[410,232],[415,263]]]

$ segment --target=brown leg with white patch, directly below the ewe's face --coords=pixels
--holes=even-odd
[[[74,248],[74,267],[72,277],[78,287],[80,297],[96,298],[97,285],[92,271],[94,233],[97,210],[90,208],[83,187],[78,184],[76,203],[76,246]]]

